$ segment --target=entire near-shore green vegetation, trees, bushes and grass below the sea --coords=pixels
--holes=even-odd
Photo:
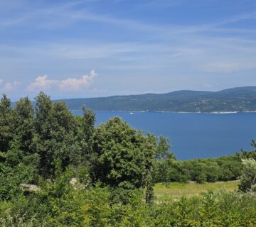
[[[2,97],[0,226],[256,226],[255,150],[179,161],[166,138],[82,112]]]

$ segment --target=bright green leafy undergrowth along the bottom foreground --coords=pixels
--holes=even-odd
[[[109,187],[84,190],[68,184],[68,170],[41,192],[0,204],[1,226],[255,226],[256,195],[208,192],[146,204],[133,192],[127,204],[114,203]]]

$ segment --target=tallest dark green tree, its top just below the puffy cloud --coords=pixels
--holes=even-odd
[[[40,92],[36,96],[36,136],[33,147],[40,155],[43,177],[55,178],[70,165],[78,149],[75,143],[76,124],[73,114],[62,102],[53,102]]]

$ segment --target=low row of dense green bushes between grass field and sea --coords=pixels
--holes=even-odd
[[[167,158],[156,162],[155,182],[216,182],[235,180],[241,175],[238,155],[219,158],[178,161]]]

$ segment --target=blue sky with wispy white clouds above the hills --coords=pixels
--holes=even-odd
[[[256,85],[255,0],[0,0],[0,94]]]

